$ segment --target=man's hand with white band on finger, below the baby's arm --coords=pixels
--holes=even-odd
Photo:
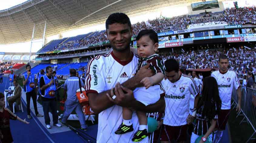
[[[115,100],[112,99],[114,91],[116,96]],[[131,107],[131,103],[135,101],[133,91],[121,86],[119,82],[115,85],[115,89],[111,89],[111,95],[108,93],[106,95],[110,101],[122,107]]]

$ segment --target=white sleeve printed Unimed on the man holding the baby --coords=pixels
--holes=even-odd
[[[101,71],[104,72],[104,71]],[[87,93],[100,93],[105,89],[105,78],[101,76],[99,70],[99,64],[96,59],[91,59],[88,62],[86,80],[85,80],[85,90]]]

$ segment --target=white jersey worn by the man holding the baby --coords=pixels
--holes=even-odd
[[[117,82],[123,83],[134,76],[138,66],[135,55],[130,61],[122,62],[110,52],[98,55],[88,63],[85,90],[87,93],[100,93],[113,88]],[[101,113],[98,117],[97,143],[132,143],[134,134],[138,131],[139,121],[135,112],[132,114],[133,132],[116,135],[115,131],[122,123],[122,107],[114,105]],[[148,138],[141,141],[148,143]]]

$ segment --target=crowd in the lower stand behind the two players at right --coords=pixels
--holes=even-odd
[[[256,73],[255,60],[256,49],[231,48],[229,50],[206,50],[206,51],[185,51],[181,53],[160,53],[164,60],[175,58],[180,62],[182,69],[205,69],[218,68],[218,57],[224,53],[229,58],[229,69],[236,73]]]

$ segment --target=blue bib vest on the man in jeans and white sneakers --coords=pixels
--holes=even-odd
[[[46,75],[43,75],[42,77],[44,78],[45,85],[50,83],[52,80],[52,78],[49,79]],[[55,82],[53,82],[47,89],[45,89],[44,95],[42,95],[41,90],[39,90],[39,91],[40,91],[41,96],[44,98],[55,98],[55,90],[56,90],[56,85],[55,85]]]

